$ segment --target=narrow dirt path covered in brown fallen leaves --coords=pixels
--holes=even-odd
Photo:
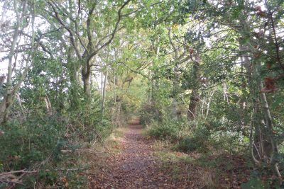
[[[92,176],[89,188],[188,188],[161,168],[153,142],[143,137],[142,131],[141,125],[129,125],[120,142],[121,153],[106,159],[107,167]]]

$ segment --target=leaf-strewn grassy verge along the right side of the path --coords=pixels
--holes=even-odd
[[[251,161],[246,156],[226,151],[192,151],[185,154],[175,151],[173,147],[174,144],[160,140],[153,145],[154,155],[162,162],[161,168],[177,181],[187,179],[196,188],[230,188],[249,179]]]

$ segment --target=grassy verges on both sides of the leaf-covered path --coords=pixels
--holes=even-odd
[[[120,127],[106,139],[104,146],[96,146],[96,150],[109,151],[93,157],[93,170],[96,173],[100,168],[107,168],[109,156],[119,154],[123,150],[121,141],[124,140],[126,127]],[[143,135],[147,138],[147,132]],[[192,188],[230,188],[239,186],[240,182],[246,182],[249,173],[249,165],[243,156],[229,154],[226,151],[214,151],[214,149],[202,153],[192,151],[186,154],[174,150],[174,145],[168,140],[155,140],[153,142],[153,155],[161,162],[160,171],[167,173],[173,181],[187,181]],[[99,173],[99,172],[98,172]]]

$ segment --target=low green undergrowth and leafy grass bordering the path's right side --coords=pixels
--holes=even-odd
[[[182,171],[178,165],[184,164],[190,166],[191,170],[197,168],[203,175],[207,174],[200,175],[200,178],[210,180],[205,184],[209,188],[218,188],[220,185],[242,188],[274,185],[281,188],[277,178],[269,176],[273,173],[269,173],[268,169],[258,168],[253,171],[254,166],[246,153],[249,138],[242,132],[229,130],[231,125],[226,125],[226,122],[202,120],[189,124],[185,120],[167,120],[152,121],[146,126],[146,134],[165,146],[160,145],[160,152],[156,156],[164,162],[164,168],[173,171],[173,175],[178,175],[176,172]],[[227,130],[224,127],[228,127]],[[178,154],[178,151],[187,155]]]

